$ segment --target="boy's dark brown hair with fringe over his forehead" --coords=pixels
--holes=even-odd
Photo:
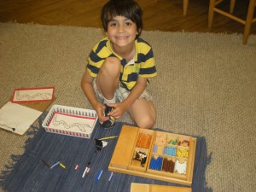
[[[108,32],[108,20],[115,16],[124,16],[137,25],[138,35],[143,29],[143,10],[133,0],[110,0],[102,8],[102,26],[105,32]]]

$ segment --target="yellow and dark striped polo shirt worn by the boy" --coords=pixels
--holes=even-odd
[[[90,52],[87,65],[90,76],[96,78],[97,73],[102,67],[102,63],[110,56],[115,56],[120,60],[121,70],[119,81],[126,90],[132,89],[138,77],[149,79],[156,76],[154,54],[151,46],[143,38],[137,38],[135,40],[135,49],[134,63],[127,63],[124,58],[113,52],[109,39],[103,38]]]

